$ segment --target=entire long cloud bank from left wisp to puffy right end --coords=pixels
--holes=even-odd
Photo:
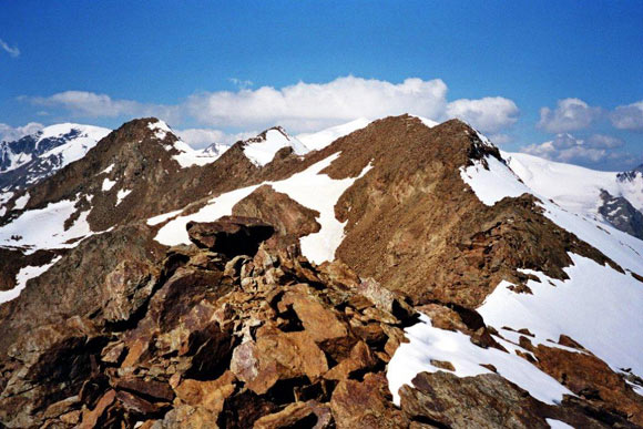
[[[279,124],[293,133],[318,131],[357,118],[378,119],[402,113],[435,121],[460,118],[481,131],[497,133],[513,124],[519,113],[513,101],[501,96],[448,102],[447,84],[440,79],[409,78],[391,83],[348,75],[326,83],[298,82],[280,89],[249,89],[246,88],[249,82],[238,80],[233,83],[238,90],[197,93],[176,105],[115,100],[85,91],[22,100],[40,106],[62,108],[78,116],[155,115],[174,124],[180,119],[188,119],[204,127],[227,130],[262,130]]]

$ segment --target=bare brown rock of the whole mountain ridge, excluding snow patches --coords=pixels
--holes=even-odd
[[[462,168],[504,164],[467,124],[389,118],[307,155],[285,146],[258,166],[238,142],[191,167],[175,159],[177,139],[155,124],[125,124],[4,218],[80,195],[94,233],[62,249],[2,248],[8,273],[62,256],[0,305],[3,425],[643,423],[635,372],[576,338],[543,344],[518,326],[487,326],[477,311],[502,282],[533,294],[530,270],[568,279],[573,255],[643,277],[555,224],[533,195],[483,204]],[[336,261],[315,265],[299,243],[324,217],[276,181],[329,159],[319,174],[351,185],[334,204],[345,223]],[[167,219],[146,222],[176,210],[188,217],[246,185],[255,187],[231,205],[236,217],[186,223],[191,245],[161,245]],[[114,205],[122,190],[133,196]],[[453,362],[433,359],[439,370],[419,372],[396,406],[388,362],[420,314],[473,347],[518,356],[569,394],[543,404],[493,365],[461,377]]]

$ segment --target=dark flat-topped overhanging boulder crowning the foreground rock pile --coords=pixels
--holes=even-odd
[[[187,234],[194,244],[228,257],[255,255],[259,244],[274,232],[272,225],[261,219],[242,216],[224,216],[216,222],[187,224]]]

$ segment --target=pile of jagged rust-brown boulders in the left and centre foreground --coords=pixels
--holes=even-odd
[[[47,349],[34,344],[30,362],[4,364],[1,421],[404,425],[385,377],[414,321],[404,299],[360,285],[340,263],[314,268],[295,246],[259,247],[269,226],[253,219],[188,228],[201,247],[171,248],[156,280],[141,282],[127,264],[108,276],[101,329],[78,318],[78,329],[50,338]],[[234,255],[242,243],[256,254]]]

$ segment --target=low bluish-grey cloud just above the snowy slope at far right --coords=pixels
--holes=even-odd
[[[590,161],[595,163],[605,159],[619,157],[620,154],[611,150],[622,145],[622,140],[611,135],[592,134],[583,140],[569,133],[561,133],[549,142],[521,147],[521,152],[553,161]]]

